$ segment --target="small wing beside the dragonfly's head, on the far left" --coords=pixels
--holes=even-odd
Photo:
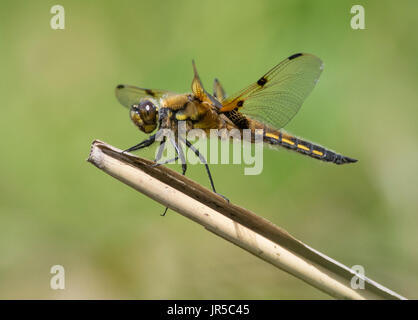
[[[115,89],[116,98],[123,106],[130,108],[133,104],[139,103],[143,98],[155,99],[172,95],[173,92],[164,90],[144,89],[135,86],[120,84]]]

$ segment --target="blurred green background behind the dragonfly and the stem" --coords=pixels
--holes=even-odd
[[[58,3],[65,30],[50,28],[57,1],[0,5],[0,298],[327,299],[85,161],[96,138],[145,138],[117,84],[187,92],[194,58],[208,89],[233,93],[296,52],[325,69],[286,129],[360,161],[266,148],[258,176],[213,165],[218,190],[418,298],[416,1]],[[201,165],[188,176],[208,185]],[[65,290],[49,287],[56,264]]]

